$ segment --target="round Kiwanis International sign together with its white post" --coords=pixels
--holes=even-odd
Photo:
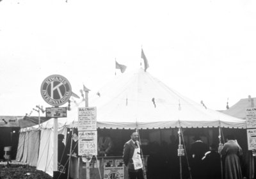
[[[68,102],[72,94],[70,82],[61,75],[51,75],[41,85],[41,95],[47,104],[59,107]],[[58,117],[54,116],[53,172],[58,171]]]

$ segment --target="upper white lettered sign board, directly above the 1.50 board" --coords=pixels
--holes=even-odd
[[[78,126],[79,131],[97,130],[97,108],[79,107],[78,108]]]

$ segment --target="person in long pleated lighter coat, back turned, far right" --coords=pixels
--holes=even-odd
[[[226,137],[227,143],[221,150],[221,155],[225,161],[225,178],[242,179],[242,170],[239,156],[243,155],[242,148],[239,146],[233,135]]]

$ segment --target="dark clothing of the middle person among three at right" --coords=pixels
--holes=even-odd
[[[215,150],[205,153],[203,159],[205,178],[220,179],[221,178],[221,160],[220,154]]]

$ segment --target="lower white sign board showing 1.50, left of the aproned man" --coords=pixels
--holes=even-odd
[[[78,155],[97,155],[97,131],[79,131],[78,139]]]

